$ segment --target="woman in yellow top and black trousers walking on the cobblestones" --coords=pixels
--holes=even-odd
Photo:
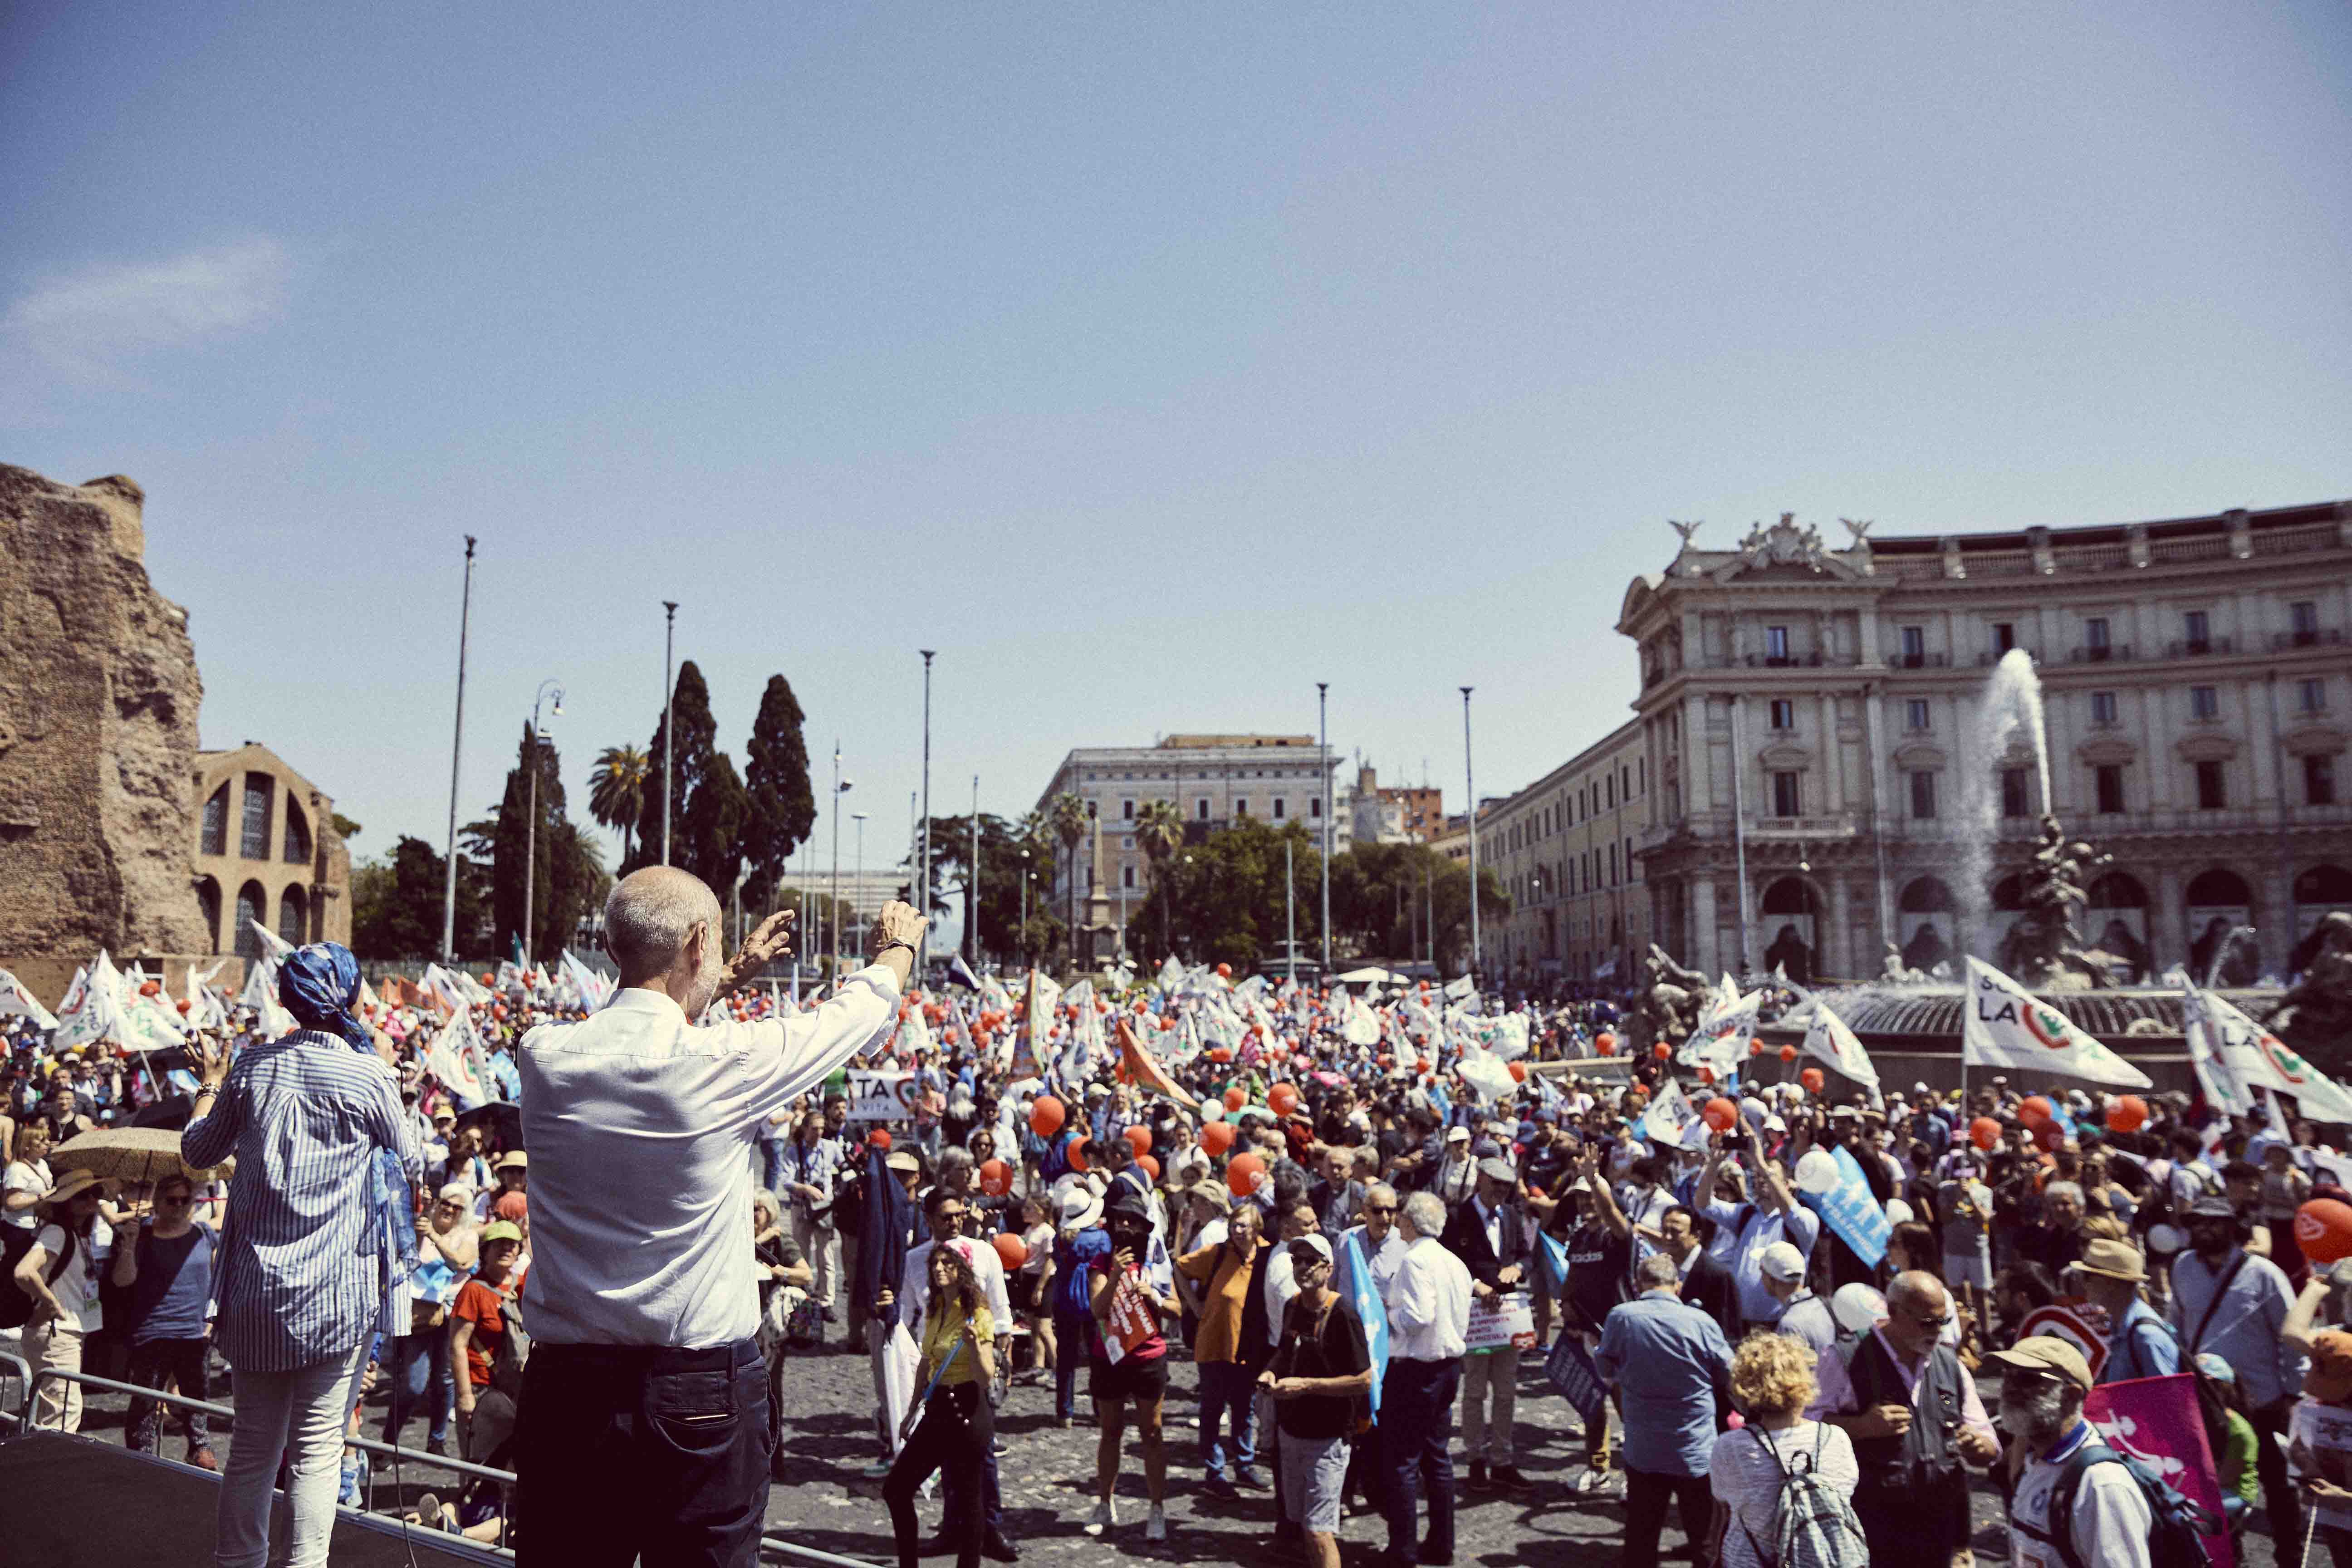
[[[927,1265],[931,1298],[924,1312],[920,1368],[929,1399],[920,1413],[908,1410],[908,1425],[917,1418],[922,1425],[915,1425],[913,1436],[898,1448],[898,1460],[882,1483],[889,1528],[898,1540],[898,1568],[917,1568],[922,1561],[915,1537],[915,1488],[929,1481],[934,1469],[953,1469],[948,1486],[962,1488],[964,1497],[978,1497],[981,1465],[995,1439],[988,1382],[997,1375],[997,1324],[988,1312],[978,1274],[960,1246],[941,1241],[931,1248]],[[962,1540],[955,1542],[957,1568],[978,1568],[985,1530],[985,1509],[964,1509]]]

